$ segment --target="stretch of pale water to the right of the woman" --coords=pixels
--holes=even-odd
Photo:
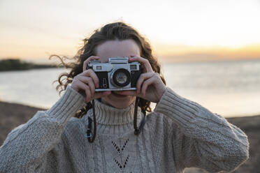
[[[260,114],[260,61],[164,65],[168,86],[223,116]]]

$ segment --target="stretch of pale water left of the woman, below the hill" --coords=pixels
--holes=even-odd
[[[0,73],[0,100],[48,108],[59,99],[52,84],[60,73],[60,68],[22,70]]]

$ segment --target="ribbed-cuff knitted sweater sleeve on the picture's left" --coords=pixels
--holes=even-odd
[[[80,93],[68,86],[50,110],[37,112],[12,130],[0,147],[1,172],[35,172],[40,160],[61,141],[68,119],[84,105]]]

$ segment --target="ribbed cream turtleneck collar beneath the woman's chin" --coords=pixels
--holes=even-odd
[[[99,100],[95,100],[96,123],[110,126],[133,123],[134,105],[135,103],[133,102],[127,108],[118,109],[101,103]],[[87,114],[92,116],[92,110],[89,110]],[[140,107],[138,107],[137,119],[140,120],[142,115],[143,114],[140,112]]]

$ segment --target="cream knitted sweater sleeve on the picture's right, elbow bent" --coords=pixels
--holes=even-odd
[[[178,125],[171,141],[173,157],[181,169],[201,167],[209,172],[229,172],[249,156],[247,135],[240,128],[169,88],[154,112]]]

